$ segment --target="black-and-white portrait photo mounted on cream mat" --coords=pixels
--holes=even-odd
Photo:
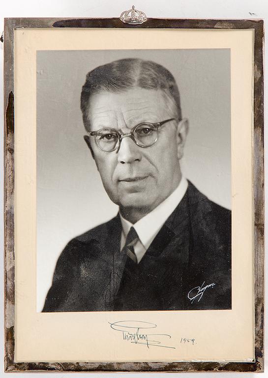
[[[230,50],[36,59],[36,311],[231,309]]]

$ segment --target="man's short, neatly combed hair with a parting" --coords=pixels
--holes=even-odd
[[[81,92],[84,126],[89,130],[89,99],[101,91],[119,93],[131,88],[160,89],[175,105],[181,120],[179,89],[170,71],[161,64],[143,59],[120,59],[89,71]]]

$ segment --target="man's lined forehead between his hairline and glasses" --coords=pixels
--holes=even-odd
[[[102,91],[90,96],[90,127],[133,127],[140,122],[159,122],[172,115],[172,106],[168,102],[160,90],[133,88],[119,93]]]

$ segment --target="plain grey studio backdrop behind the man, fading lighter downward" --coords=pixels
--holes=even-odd
[[[230,50],[37,52],[37,312],[66,243],[111,219],[111,203],[83,135],[86,74],[122,58],[143,58],[175,76],[189,119],[182,172],[209,199],[231,208]]]

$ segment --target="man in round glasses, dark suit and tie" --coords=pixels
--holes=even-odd
[[[141,59],[97,67],[81,109],[119,213],[67,244],[43,312],[230,309],[231,214],[181,174],[188,123],[172,74]]]

